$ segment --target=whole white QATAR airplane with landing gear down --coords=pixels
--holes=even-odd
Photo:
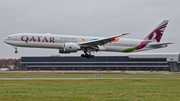
[[[75,35],[56,35],[38,33],[18,33],[9,35],[3,41],[15,48],[52,48],[58,49],[59,53],[72,53],[83,51],[81,57],[95,58],[92,52],[138,52],[167,47],[172,43],[160,43],[162,35],[167,27],[168,20],[162,21],[144,39],[118,38],[129,33],[123,33],[111,37],[75,36]]]

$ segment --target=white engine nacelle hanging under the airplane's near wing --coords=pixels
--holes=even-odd
[[[59,49],[59,53],[77,52],[78,49],[80,49],[80,47],[76,43],[65,43],[64,44],[64,49]]]

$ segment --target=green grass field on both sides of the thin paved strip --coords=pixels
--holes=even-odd
[[[0,74],[1,78],[16,77]],[[95,77],[95,74],[20,74],[20,77]],[[179,78],[180,75],[102,74],[104,78]],[[180,101],[180,79],[0,80],[0,101]]]

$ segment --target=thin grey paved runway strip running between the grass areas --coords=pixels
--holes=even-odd
[[[0,80],[102,80],[123,78],[0,78]],[[125,78],[125,79],[180,79],[180,78]]]

